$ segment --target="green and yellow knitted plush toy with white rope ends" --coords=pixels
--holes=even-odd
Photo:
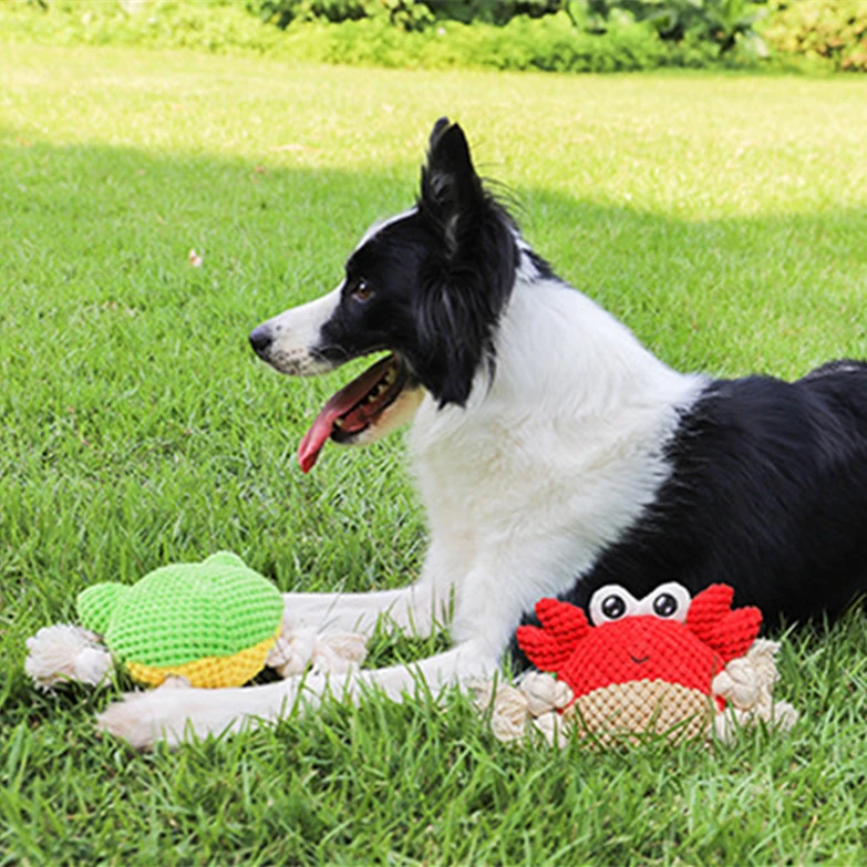
[[[364,638],[300,629],[279,590],[235,554],[173,564],[135,585],[97,584],[76,600],[81,626],[28,639],[27,673],[38,688],[99,685],[122,663],[147,687],[239,687],[266,665],[281,677],[361,664]]]

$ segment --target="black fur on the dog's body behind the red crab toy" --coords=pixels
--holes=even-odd
[[[867,591],[867,364],[713,382],[667,458],[658,498],[560,598],[586,609],[607,584],[641,598],[722,581],[775,626],[833,618]]]

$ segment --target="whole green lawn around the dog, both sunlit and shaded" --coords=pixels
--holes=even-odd
[[[867,355],[866,96],[6,47],[0,863],[864,863],[859,613],[787,637],[791,736],[714,752],[508,749],[450,693],[137,755],[94,734],[113,688],[43,696],[22,662],[89,584],[219,548],[282,589],[417,572],[401,437],[302,476],[296,444],[349,373],[282,379],[246,334],[411,202],[437,115],[538,249],[667,361],[792,376]],[[426,649],[381,637],[373,657]]]

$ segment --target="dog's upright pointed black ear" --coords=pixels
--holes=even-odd
[[[419,206],[443,233],[448,256],[458,252],[485,202],[464,131],[441,117],[431,133],[427,164],[422,168]]]

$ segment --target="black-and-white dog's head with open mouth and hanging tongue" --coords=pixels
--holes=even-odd
[[[389,354],[334,394],[299,448],[310,469],[326,441],[362,445],[406,422],[424,392],[463,406],[515,281],[515,226],[484,188],[463,131],[434,125],[413,208],[372,226],[332,292],[250,334],[257,354],[293,375]]]

